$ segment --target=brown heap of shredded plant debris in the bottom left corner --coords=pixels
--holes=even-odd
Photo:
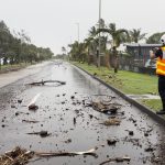
[[[34,152],[26,151],[16,146],[14,150],[6,152],[4,155],[0,156],[1,165],[25,165],[29,160],[34,156]]]

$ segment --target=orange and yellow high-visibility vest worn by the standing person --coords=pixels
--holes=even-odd
[[[163,52],[163,56],[162,58],[161,57],[157,58],[156,74],[165,76],[165,46],[161,47],[161,50]]]

